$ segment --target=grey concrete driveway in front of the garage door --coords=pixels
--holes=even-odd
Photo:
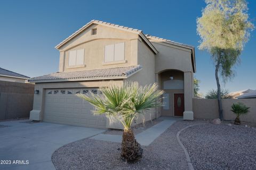
[[[0,169],[55,169],[51,156],[56,149],[105,131],[28,121],[0,122]]]

